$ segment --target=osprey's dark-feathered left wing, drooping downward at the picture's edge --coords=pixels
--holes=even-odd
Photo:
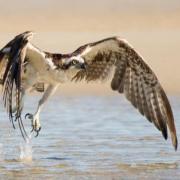
[[[26,55],[26,47],[30,36],[32,36],[31,32],[20,34],[0,51],[0,63],[2,64],[3,62],[6,62],[2,80],[4,106],[7,108],[13,127],[15,127],[14,121],[18,121],[24,139],[27,134],[21,119],[21,73],[22,64]],[[15,112],[13,112],[13,104],[16,106]]]

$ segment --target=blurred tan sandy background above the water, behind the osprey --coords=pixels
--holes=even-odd
[[[17,33],[37,32],[33,43],[52,52],[118,35],[127,39],[159,77],[180,93],[179,0],[0,0],[0,47]],[[64,84],[63,94],[112,94],[109,84]]]

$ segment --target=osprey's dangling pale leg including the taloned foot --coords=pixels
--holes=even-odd
[[[39,114],[45,104],[45,102],[48,100],[48,98],[54,94],[54,92],[57,89],[57,85],[49,85],[48,88],[45,90],[45,93],[43,94],[42,98],[39,100],[38,103],[38,108],[36,110],[36,113],[33,114],[26,114],[25,118],[28,117],[29,119],[31,119],[32,121],[32,131],[35,131],[36,137],[39,135],[39,131],[41,130],[41,124],[40,124],[40,120],[39,120]]]

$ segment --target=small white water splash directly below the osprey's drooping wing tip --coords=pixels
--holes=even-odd
[[[26,142],[20,144],[20,160],[24,162],[31,162],[32,161],[32,144],[31,144],[31,135]]]

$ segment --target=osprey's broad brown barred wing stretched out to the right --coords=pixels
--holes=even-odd
[[[113,73],[112,89],[124,93],[165,139],[168,137],[168,126],[172,143],[177,149],[176,128],[168,98],[156,75],[125,40],[113,37],[87,44],[71,56],[80,56],[87,63],[86,70],[78,72],[73,80],[103,81]]]

